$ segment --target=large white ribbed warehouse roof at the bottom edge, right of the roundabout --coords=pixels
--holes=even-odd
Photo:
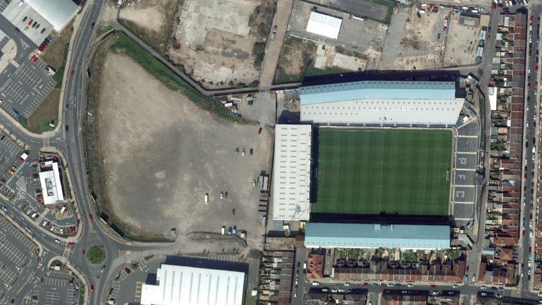
[[[162,264],[157,285],[143,284],[141,305],[241,305],[244,273]]]

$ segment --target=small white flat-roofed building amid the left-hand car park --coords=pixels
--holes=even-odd
[[[60,181],[59,163],[53,161],[40,163],[39,177],[43,204],[54,205],[63,202],[64,194]]]

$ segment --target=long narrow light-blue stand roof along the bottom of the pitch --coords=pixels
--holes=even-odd
[[[450,226],[308,223],[305,246],[448,249]]]

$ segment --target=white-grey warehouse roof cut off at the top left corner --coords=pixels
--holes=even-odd
[[[38,14],[60,31],[78,10],[79,6],[72,0],[24,0]]]

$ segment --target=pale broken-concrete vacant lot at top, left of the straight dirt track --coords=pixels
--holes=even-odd
[[[250,84],[259,76],[252,53],[254,43],[260,41],[257,24],[263,14],[256,9],[270,2],[185,0],[170,59],[210,88]]]

